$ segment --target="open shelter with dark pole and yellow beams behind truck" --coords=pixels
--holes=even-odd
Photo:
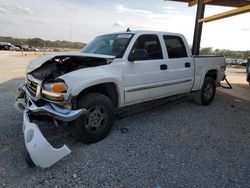
[[[189,7],[197,5],[195,29],[194,29],[194,37],[192,45],[193,55],[199,55],[203,22],[215,21],[218,19],[250,12],[250,0],[165,0],[165,1],[183,2],[187,3]],[[235,9],[204,18],[206,5],[227,6],[227,7],[234,7]]]

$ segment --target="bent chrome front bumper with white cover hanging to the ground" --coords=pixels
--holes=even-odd
[[[86,112],[85,109],[67,110],[52,103],[38,106],[25,92],[25,86],[21,87],[15,106],[18,110],[23,111],[25,146],[36,166],[48,168],[70,154],[71,151],[66,145],[58,149],[51,146],[38,125],[30,121],[29,113],[47,115],[61,121],[73,121],[83,115]]]

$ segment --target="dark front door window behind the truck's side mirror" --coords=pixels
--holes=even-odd
[[[147,51],[147,57],[143,60],[163,59],[161,45],[157,35],[139,36],[131,52],[135,49],[144,49]]]

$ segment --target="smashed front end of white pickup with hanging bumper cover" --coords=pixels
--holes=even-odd
[[[43,136],[30,115],[42,115],[62,122],[74,121],[86,113],[76,109],[70,88],[59,77],[82,68],[110,63],[106,58],[84,55],[56,55],[31,62],[26,71],[25,84],[20,86],[15,107],[23,111],[25,146],[36,166],[48,168],[71,151],[64,145],[54,148]]]

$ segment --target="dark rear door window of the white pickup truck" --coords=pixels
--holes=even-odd
[[[186,47],[181,37],[164,36],[169,59],[187,57]]]

